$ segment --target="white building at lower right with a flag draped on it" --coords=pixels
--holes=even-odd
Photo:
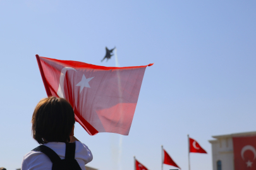
[[[256,135],[256,132],[233,133],[229,135],[212,136],[212,170],[235,170],[232,137]]]

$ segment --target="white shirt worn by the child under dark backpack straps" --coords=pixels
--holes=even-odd
[[[88,149],[87,145],[79,141],[76,142],[75,159],[80,165],[82,170],[85,170],[85,164],[92,161],[92,152]],[[61,159],[65,158],[66,144],[63,142],[48,142],[44,144],[51,148]],[[23,156],[21,163],[21,170],[51,170],[52,162],[46,154],[42,152],[30,151]]]

